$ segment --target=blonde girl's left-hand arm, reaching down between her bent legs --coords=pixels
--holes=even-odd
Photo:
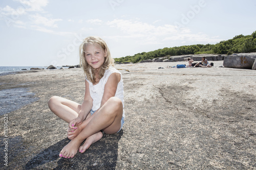
[[[78,117],[71,120],[69,123],[69,128],[74,129],[75,125],[80,125],[84,119],[86,119],[87,115],[89,114],[90,110],[93,106],[93,99],[90,95],[90,88],[89,83],[86,80],[86,92],[84,93],[84,99],[80,108],[80,111],[78,113]]]

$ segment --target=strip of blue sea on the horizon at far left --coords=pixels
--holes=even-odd
[[[46,69],[48,66],[42,67],[42,66],[15,66],[15,67],[9,67],[9,66],[0,66],[0,76],[9,75],[9,74],[15,74],[16,71],[22,71],[22,69],[30,70],[30,68],[44,68]],[[61,67],[56,67],[57,69]]]

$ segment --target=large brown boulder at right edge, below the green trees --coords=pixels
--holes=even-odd
[[[229,68],[251,69],[255,58],[256,55],[252,56],[248,54],[229,55],[225,56],[223,66]]]

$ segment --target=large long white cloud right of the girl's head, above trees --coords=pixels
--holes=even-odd
[[[173,25],[154,26],[138,20],[123,20],[114,19],[108,21],[106,25],[111,28],[117,28],[124,35],[114,36],[117,38],[137,38],[136,42],[139,44],[161,44],[168,42],[188,42],[196,41],[215,43],[221,41],[218,37],[209,37],[203,33],[191,33],[188,28],[178,28]]]

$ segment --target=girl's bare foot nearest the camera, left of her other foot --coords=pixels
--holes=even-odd
[[[75,139],[71,140],[59,153],[59,157],[63,158],[73,158],[81,143],[77,142]]]

